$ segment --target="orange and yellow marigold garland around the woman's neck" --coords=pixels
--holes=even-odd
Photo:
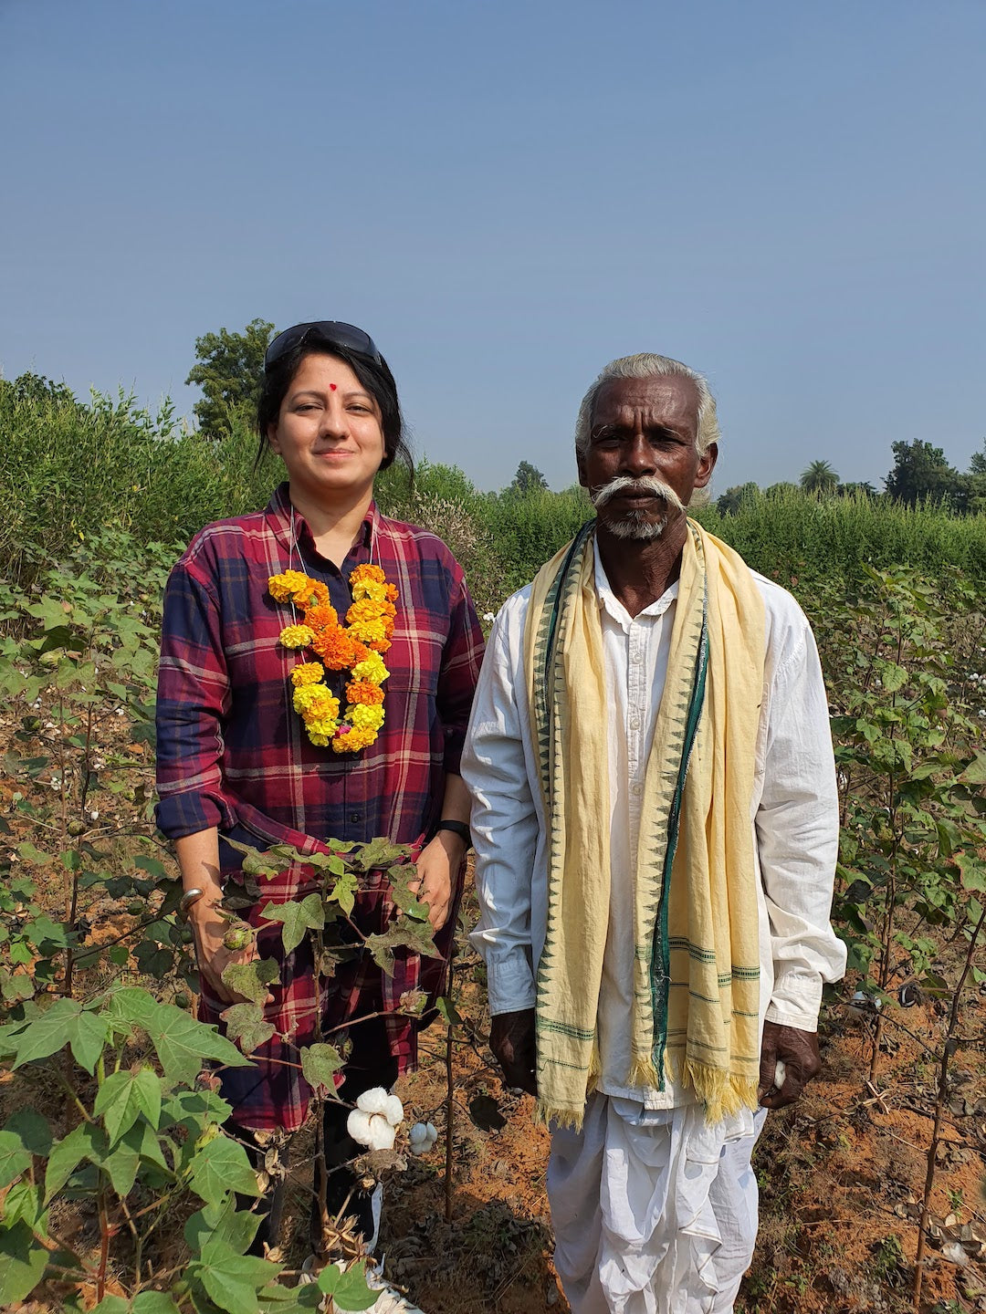
[[[321,661],[308,661],[291,673],[293,704],[305,724],[308,737],[319,748],[330,744],[334,753],[358,753],[372,744],[384,724],[384,691],[390,674],[380,656],[390,646],[397,589],[387,582],[380,566],[363,565],[350,576],[352,606],[346,627],[329,599],[329,587],[301,570],[271,576],[267,587],[275,602],[291,602],[304,622],[285,625],[280,641],[285,648],[310,648]],[[346,711],[339,716],[339,699],[323,683],[329,670],[350,670],[346,685]]]

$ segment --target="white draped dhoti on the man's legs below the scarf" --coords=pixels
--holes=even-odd
[[[555,1267],[572,1314],[731,1314],[753,1256],[753,1144],[766,1110],[710,1127],[699,1105],[589,1097],[552,1127]]]

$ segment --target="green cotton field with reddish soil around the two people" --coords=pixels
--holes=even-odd
[[[217,452],[122,401],[71,407],[0,389],[0,1306],[314,1307],[314,1292],[273,1285],[275,1263],[242,1257],[248,1223],[229,1189],[256,1188],[217,1134],[221,1102],[200,1070],[245,1059],[195,1020],[176,867],[153,824],[175,540],[259,505],[271,473],[251,469],[247,435]],[[101,463],[101,502],[74,495],[72,444]],[[480,494],[427,465],[415,490],[394,480],[381,502],[446,537],[480,614],[585,515],[577,490]],[[824,1072],[757,1147],[761,1236],[738,1309],[986,1310],[986,520],[797,493],[702,519],[815,625],[841,788],[835,920],[851,954],[824,1005]],[[325,879],[329,907],[344,895],[338,871]],[[410,904],[402,917],[414,934]],[[387,1271],[427,1314],[563,1314],[547,1139],[492,1066],[482,983],[460,937],[444,1020],[398,1092],[438,1147],[371,1166],[387,1179]],[[292,1225],[316,1154],[300,1134]],[[289,1226],[277,1257],[288,1282],[302,1233]]]

